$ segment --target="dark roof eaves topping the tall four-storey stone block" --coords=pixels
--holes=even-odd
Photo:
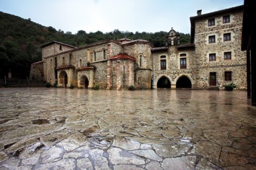
[[[191,29],[190,29],[190,43],[194,43],[194,30],[195,30],[195,22],[198,19],[204,19],[204,18],[210,18],[216,15],[223,15],[224,13],[232,13],[232,12],[238,12],[238,11],[243,11],[244,5],[232,7],[229,9],[224,9],[224,10],[218,10],[216,12],[211,12],[211,13],[205,13],[203,15],[197,15],[197,16],[191,16],[190,17],[190,24],[191,24]]]

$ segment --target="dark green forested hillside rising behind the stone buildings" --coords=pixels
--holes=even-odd
[[[63,32],[53,27],[44,27],[31,19],[0,12],[0,79],[7,77],[9,70],[13,78],[29,77],[30,64],[41,60],[40,46],[50,41],[59,41],[71,46],[84,46],[104,39],[146,39],[154,47],[165,46],[166,32],[123,32],[118,29],[102,33],[79,30],[77,33]],[[180,33],[180,43],[190,42],[190,35]]]

